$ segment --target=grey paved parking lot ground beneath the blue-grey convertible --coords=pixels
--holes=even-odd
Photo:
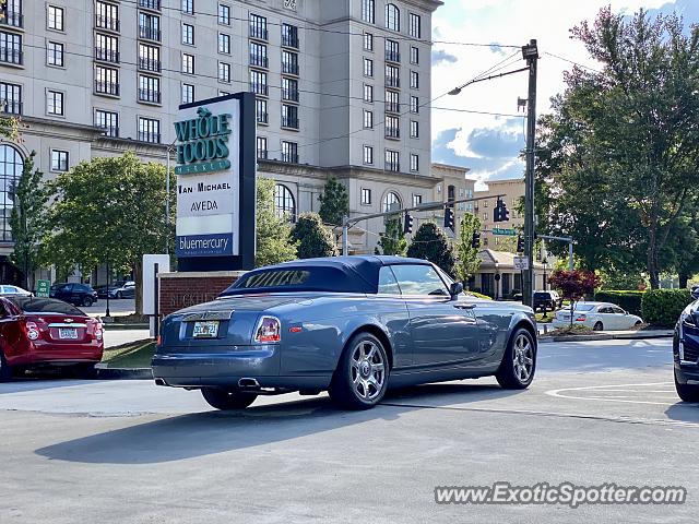
[[[699,406],[668,340],[543,344],[524,392],[494,380],[238,414],[150,381],[0,384],[0,521],[695,522]],[[684,486],[684,505],[441,505],[436,486]]]

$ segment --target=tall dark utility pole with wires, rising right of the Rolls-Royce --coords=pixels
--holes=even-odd
[[[531,39],[522,46],[522,58],[529,66],[529,97],[526,99],[526,174],[524,176],[524,254],[529,261],[529,269],[524,271],[522,283],[522,302],[532,307],[536,273],[534,271],[534,145],[536,138],[536,66],[538,48],[536,40]]]

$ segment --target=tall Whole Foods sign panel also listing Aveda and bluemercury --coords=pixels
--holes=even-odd
[[[256,130],[249,108],[254,110],[254,97],[248,95],[180,106],[175,122],[180,271],[252,267]]]

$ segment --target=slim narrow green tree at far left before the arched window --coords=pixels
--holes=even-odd
[[[25,158],[22,175],[11,189],[14,204],[10,215],[14,240],[11,260],[24,271],[24,286],[27,289],[34,288],[34,272],[39,266],[39,242],[45,231],[48,201],[44,174],[34,169],[35,155],[32,152]]]

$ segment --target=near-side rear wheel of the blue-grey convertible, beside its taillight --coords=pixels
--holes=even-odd
[[[370,333],[357,333],[342,353],[328,392],[341,407],[368,409],[383,398],[389,372],[383,344]]]

